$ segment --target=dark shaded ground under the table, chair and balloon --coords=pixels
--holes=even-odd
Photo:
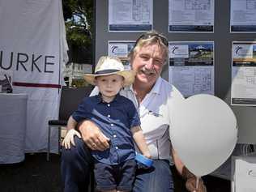
[[[0,164],[0,192],[61,192],[60,158],[45,153],[26,155],[19,164]],[[175,192],[186,192],[184,181],[175,174]],[[208,192],[230,192],[230,182],[217,177],[203,177]],[[160,191],[156,191],[160,192]]]

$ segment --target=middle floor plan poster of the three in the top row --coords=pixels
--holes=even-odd
[[[214,0],[169,0],[169,32],[213,32]]]

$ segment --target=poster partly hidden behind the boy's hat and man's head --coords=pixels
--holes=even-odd
[[[109,41],[108,55],[120,58],[126,70],[130,70],[128,54],[134,48],[135,41]]]

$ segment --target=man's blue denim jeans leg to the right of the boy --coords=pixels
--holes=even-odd
[[[154,160],[150,169],[137,169],[133,192],[173,192],[173,174],[168,160]]]

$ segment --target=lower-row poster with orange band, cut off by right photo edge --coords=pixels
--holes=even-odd
[[[256,41],[233,41],[231,104],[256,106]]]

